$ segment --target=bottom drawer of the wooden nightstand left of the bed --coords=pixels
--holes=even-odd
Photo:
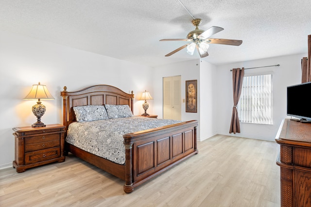
[[[25,153],[25,164],[31,164],[60,157],[59,147]]]

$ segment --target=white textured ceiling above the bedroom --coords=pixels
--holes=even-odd
[[[215,65],[307,53],[310,0],[181,0],[201,30],[225,30],[211,38],[243,40],[241,46],[210,44]],[[0,30],[138,64],[158,66],[198,59],[183,49],[194,30],[179,0],[0,0]]]

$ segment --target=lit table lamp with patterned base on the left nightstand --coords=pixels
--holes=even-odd
[[[37,104],[33,106],[32,110],[35,116],[37,117],[37,122],[35,122],[32,127],[45,127],[46,125],[41,122],[41,116],[43,116],[46,111],[46,107],[41,104],[41,99],[49,100],[55,99],[46,85],[41,85],[40,82],[38,84],[33,85],[33,88],[29,92],[29,94],[24,98],[25,100],[36,100]]]

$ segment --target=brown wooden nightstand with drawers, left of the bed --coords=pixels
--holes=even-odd
[[[17,173],[55,161],[65,161],[65,126],[54,124],[46,127],[16,127],[13,130],[13,167]]]

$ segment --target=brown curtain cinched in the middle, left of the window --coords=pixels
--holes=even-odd
[[[232,86],[233,86],[233,109],[232,118],[229,133],[240,133],[240,122],[238,116],[237,105],[240,100],[242,83],[244,77],[244,68],[234,68],[232,69]]]

